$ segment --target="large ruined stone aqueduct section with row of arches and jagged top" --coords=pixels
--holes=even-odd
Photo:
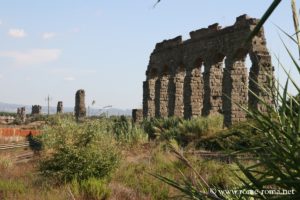
[[[246,42],[258,21],[242,15],[233,26],[213,24],[186,41],[178,36],[157,43],[143,82],[144,118],[221,113],[230,125],[246,118],[237,104],[264,110],[255,95],[272,103],[267,91],[274,80],[264,31]]]

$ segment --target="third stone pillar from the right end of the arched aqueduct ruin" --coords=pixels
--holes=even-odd
[[[202,115],[222,113],[223,62],[205,63]]]

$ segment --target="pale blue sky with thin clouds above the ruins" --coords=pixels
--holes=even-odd
[[[94,99],[97,107],[141,107],[142,82],[157,42],[177,35],[188,39],[190,31],[215,22],[232,25],[244,13],[259,18],[271,2],[163,0],[153,9],[155,0],[2,0],[0,102],[46,105],[49,94],[53,106],[59,100],[74,106],[82,88],[87,104]],[[292,33],[291,19],[285,0],[265,25],[271,53],[288,69],[274,24]],[[285,79],[280,70],[276,75]]]

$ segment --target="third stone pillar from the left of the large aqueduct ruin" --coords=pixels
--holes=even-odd
[[[184,69],[178,70],[175,75],[174,83],[175,83],[175,92],[174,92],[174,116],[176,117],[184,117],[184,96],[183,96],[183,87],[184,87]]]

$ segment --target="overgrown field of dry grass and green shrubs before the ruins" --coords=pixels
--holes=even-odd
[[[135,125],[126,117],[82,123],[70,116],[50,117],[34,139],[42,150],[30,162],[16,164],[2,154],[0,199],[181,199],[180,192],[154,177],[179,181],[185,174],[194,180],[170,143],[210,185],[237,188],[241,182],[235,174],[242,174],[234,162],[189,153],[227,153],[261,139],[243,125],[224,129],[222,121],[222,116],[169,118]]]

